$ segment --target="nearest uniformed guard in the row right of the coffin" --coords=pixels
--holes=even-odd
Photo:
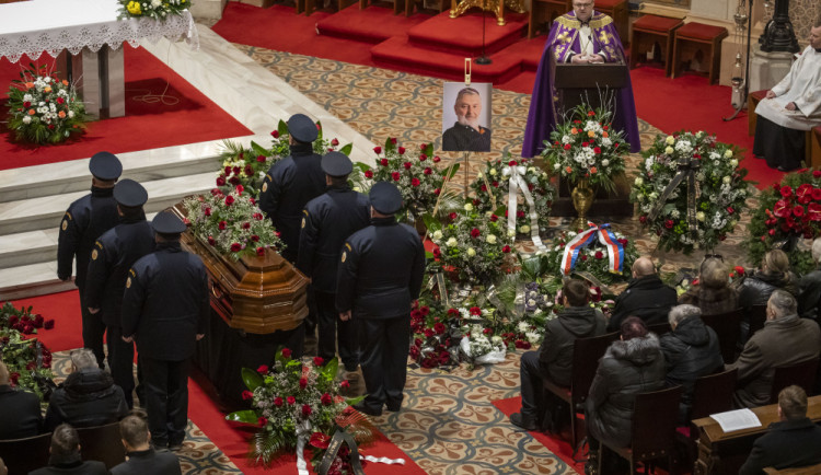
[[[368,396],[355,408],[371,416],[382,406],[396,412],[407,373],[410,305],[419,298],[425,248],[416,230],[400,224],[395,185],[378,182],[370,192],[371,225],[354,233],[339,257],[336,309],[358,321],[360,364]]]

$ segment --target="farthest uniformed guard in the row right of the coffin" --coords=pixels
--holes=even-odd
[[[293,263],[299,255],[299,229],[308,201],[325,193],[322,155],[313,152],[316,124],[303,114],[288,119],[291,154],[268,170],[259,193],[262,209],[286,244],[282,257]]]

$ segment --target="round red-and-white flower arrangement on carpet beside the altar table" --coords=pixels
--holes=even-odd
[[[68,81],[30,63],[9,89],[9,129],[16,140],[59,143],[85,128],[85,108]]]

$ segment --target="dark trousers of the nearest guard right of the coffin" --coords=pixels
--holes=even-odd
[[[363,404],[374,410],[382,405],[398,409],[407,374],[410,349],[410,315],[393,318],[361,318],[359,345],[362,376],[368,396]]]

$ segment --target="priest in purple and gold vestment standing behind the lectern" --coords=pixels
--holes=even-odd
[[[557,18],[547,36],[547,44],[544,47],[533,84],[522,157],[530,158],[540,154],[545,147],[544,141],[550,140],[556,121],[564,121],[556,111],[554,99],[556,94],[547,55],[554,55],[557,62],[579,65],[625,62],[624,48],[613,19],[593,11],[593,0],[574,0],[573,11]],[[641,143],[638,137],[636,104],[633,101],[629,74],[627,85],[615,91],[613,113],[613,128],[624,131],[625,140],[631,144],[631,152],[639,151]]]

